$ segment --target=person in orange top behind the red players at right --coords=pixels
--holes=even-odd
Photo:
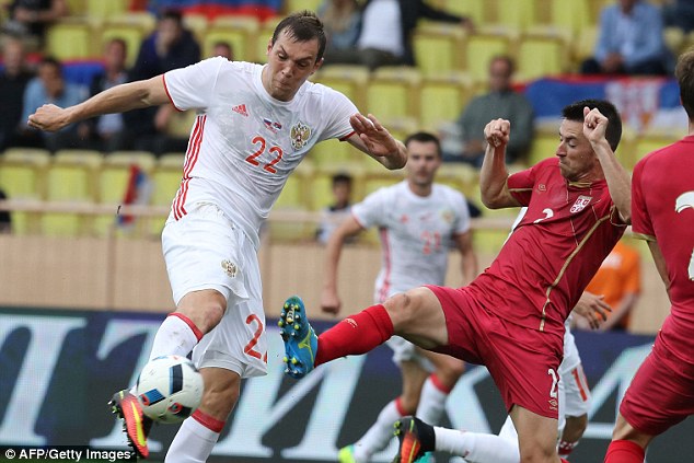
[[[632,310],[641,291],[638,251],[624,244],[624,241],[617,242],[600,265],[586,291],[601,297],[612,308],[612,312],[608,312],[608,320],[600,325],[600,331],[627,331]],[[575,320],[578,328],[591,329],[586,319]]]

